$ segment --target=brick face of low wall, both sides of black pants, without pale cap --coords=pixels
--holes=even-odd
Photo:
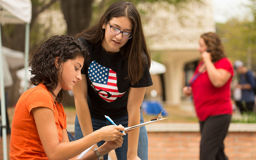
[[[198,160],[199,132],[148,132],[148,160]],[[256,132],[229,132],[225,141],[229,160],[256,159]]]

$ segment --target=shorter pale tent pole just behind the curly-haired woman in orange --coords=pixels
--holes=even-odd
[[[28,52],[29,52],[29,29],[30,29],[30,24],[26,23],[26,29],[25,29],[25,84],[24,84],[24,92],[27,91],[28,89]]]

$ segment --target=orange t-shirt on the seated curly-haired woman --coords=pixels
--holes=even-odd
[[[52,109],[55,124],[62,140],[62,130],[67,128],[66,114],[61,104],[53,101],[52,94],[44,84],[39,84],[24,92],[17,102],[12,120],[10,141],[10,158],[17,159],[48,159],[40,141],[33,108],[46,107]]]

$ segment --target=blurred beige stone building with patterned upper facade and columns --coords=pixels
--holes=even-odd
[[[191,2],[174,7],[166,2],[140,4],[143,27],[153,60],[166,67],[161,76],[152,76],[160,100],[172,105],[183,101],[182,88],[188,83],[200,60],[198,39],[202,33],[215,32],[212,0]]]

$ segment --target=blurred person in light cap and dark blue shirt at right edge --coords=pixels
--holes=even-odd
[[[234,68],[239,75],[239,81],[235,87],[236,89],[241,90],[241,99],[235,101],[236,106],[241,113],[252,112],[255,101],[255,77],[253,76],[252,71],[248,70],[241,60],[236,60],[234,62]]]

